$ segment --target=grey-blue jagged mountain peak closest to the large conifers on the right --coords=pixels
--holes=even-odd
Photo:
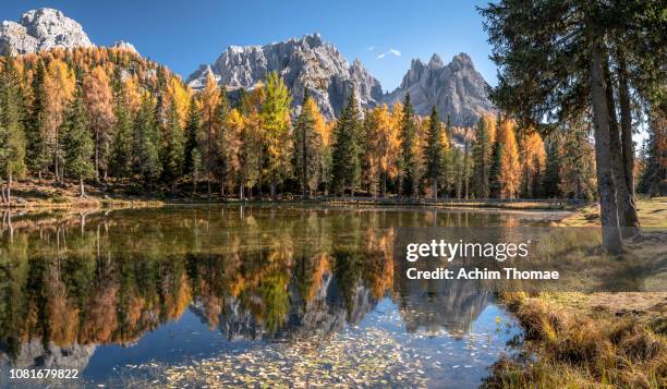
[[[412,60],[401,85],[386,95],[384,101],[391,105],[409,93],[416,113],[429,114],[436,106],[440,120],[449,116],[453,125],[470,126],[481,116],[495,112],[487,87],[466,53],[456,56],[447,65],[438,54],[433,54],[428,64]]]

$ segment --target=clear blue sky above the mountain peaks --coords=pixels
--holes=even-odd
[[[475,5],[486,1],[2,0],[0,20],[50,7],[78,21],[96,45],[128,40],[145,57],[187,77],[230,45],[264,45],[318,32],[352,62],[359,58],[384,89],[397,87],[413,58],[445,63],[468,52],[496,84],[490,47]]]

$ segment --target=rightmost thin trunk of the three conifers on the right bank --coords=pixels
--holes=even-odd
[[[630,203],[626,206],[626,227],[623,231],[627,236],[640,233],[640,222],[636,215],[636,203],[634,200],[634,145],[632,143],[632,110],[630,108],[630,87],[628,85],[628,69],[624,53],[618,49],[618,99],[620,105],[620,126],[622,165],[626,173],[626,186],[630,196]]]

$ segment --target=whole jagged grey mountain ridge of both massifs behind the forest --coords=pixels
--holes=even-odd
[[[252,88],[270,71],[284,77],[295,106],[307,89],[329,120],[341,112],[353,86],[362,107],[391,106],[410,93],[419,114],[430,113],[435,105],[442,120],[449,116],[454,125],[473,125],[481,116],[495,111],[486,81],[465,53],[456,56],[447,65],[437,54],[428,64],[413,60],[401,85],[384,94],[379,81],[359,60],[349,65],[338,49],[324,42],[318,34],[265,46],[230,46],[214,64],[201,65],[186,83],[202,88],[210,72],[231,90]]]

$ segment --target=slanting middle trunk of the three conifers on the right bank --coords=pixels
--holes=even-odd
[[[609,70],[608,58],[603,60],[605,76],[607,109],[609,112],[609,147],[611,148],[611,171],[616,186],[616,202],[618,207],[618,224],[621,227],[621,235],[631,238],[639,232],[639,219],[634,200],[628,190],[628,178],[623,167],[622,145],[620,141],[618,118],[616,116],[616,101],[614,99],[614,82]],[[632,138],[630,139],[632,142]]]

